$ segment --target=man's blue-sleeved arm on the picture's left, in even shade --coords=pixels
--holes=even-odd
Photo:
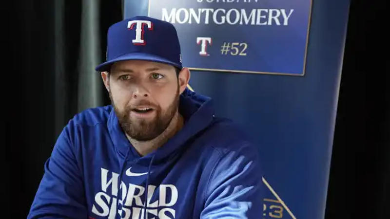
[[[82,175],[67,128],[59,135],[45,163],[28,219],[87,218]]]

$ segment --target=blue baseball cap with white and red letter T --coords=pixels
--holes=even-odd
[[[124,19],[111,25],[107,33],[106,58],[106,62],[95,68],[96,71],[109,71],[113,63],[124,60],[147,60],[183,68],[175,27],[146,16]]]

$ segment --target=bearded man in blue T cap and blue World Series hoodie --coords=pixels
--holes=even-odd
[[[107,44],[96,70],[112,106],[63,129],[28,218],[261,218],[258,152],[186,88],[174,26],[125,19]]]

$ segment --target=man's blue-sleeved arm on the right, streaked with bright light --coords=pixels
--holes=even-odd
[[[262,171],[251,145],[221,152],[206,192],[201,219],[258,219],[263,215]]]

